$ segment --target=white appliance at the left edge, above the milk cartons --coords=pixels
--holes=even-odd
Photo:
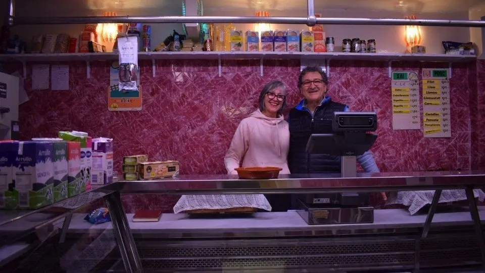
[[[0,141],[19,134],[19,78],[0,73]]]

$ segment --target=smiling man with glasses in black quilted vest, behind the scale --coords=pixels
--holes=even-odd
[[[349,111],[345,104],[334,102],[327,95],[328,78],[320,67],[302,70],[298,87],[304,99],[289,112],[288,166],[291,173],[340,173],[340,156],[308,154],[307,142],[312,133],[333,133],[334,112]],[[366,172],[379,172],[369,151],[357,157]]]

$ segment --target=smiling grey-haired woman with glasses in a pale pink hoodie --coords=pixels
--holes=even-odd
[[[281,81],[266,84],[259,96],[259,109],[243,119],[234,133],[224,157],[227,173],[237,174],[238,167],[281,167],[288,174],[288,123],[282,111],[286,90]]]

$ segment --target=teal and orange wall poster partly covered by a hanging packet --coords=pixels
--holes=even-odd
[[[136,69],[136,90],[119,89],[119,64],[113,62],[110,67],[110,87],[108,88],[108,109],[110,111],[141,110],[140,70]]]

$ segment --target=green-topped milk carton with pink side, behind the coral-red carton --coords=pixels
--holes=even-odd
[[[81,144],[81,180],[83,189],[91,189],[91,168],[92,168],[92,138],[85,132],[60,131],[59,138],[66,141],[75,141]]]

